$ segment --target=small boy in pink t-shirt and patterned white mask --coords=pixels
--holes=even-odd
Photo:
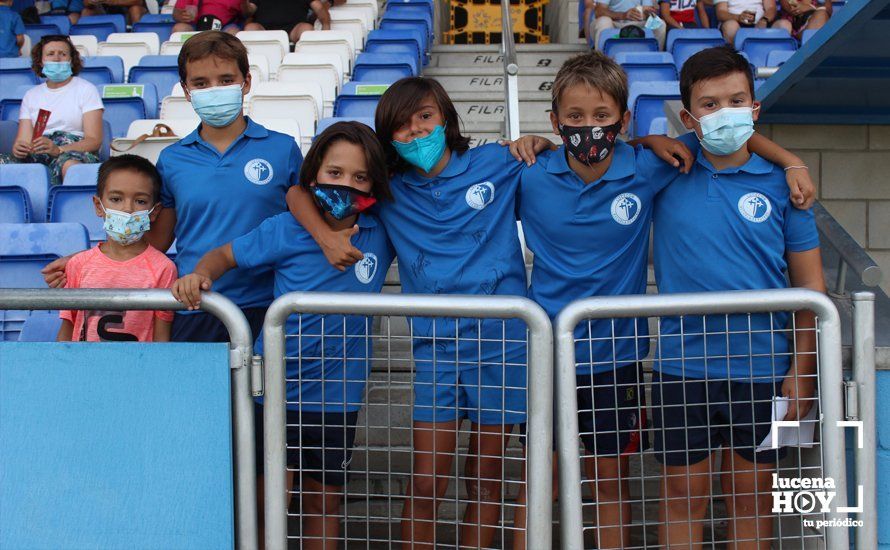
[[[176,266],[142,240],[160,212],[161,176],[136,155],[99,167],[93,204],[108,240],[76,254],[65,288],[170,288]],[[59,342],[169,342],[172,311],[62,311]]]

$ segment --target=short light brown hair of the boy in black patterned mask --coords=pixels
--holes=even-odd
[[[622,116],[627,111],[627,74],[621,65],[601,52],[582,53],[562,64],[556,73],[551,91],[554,113],[558,111],[562,93],[578,84],[584,84],[610,96],[618,103]]]

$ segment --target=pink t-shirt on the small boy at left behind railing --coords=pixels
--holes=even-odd
[[[73,256],[65,267],[65,288],[170,288],[176,266],[151,245],[125,262],[112,260],[99,247]],[[151,342],[155,317],[173,321],[172,311],[61,311],[74,325],[75,342]]]

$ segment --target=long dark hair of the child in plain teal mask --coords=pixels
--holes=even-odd
[[[403,78],[384,92],[374,114],[377,137],[386,152],[386,163],[393,172],[404,172],[410,165],[396,153],[392,136],[411,119],[429,96],[433,97],[445,120],[445,144],[448,148],[458,153],[470,148],[470,138],[461,135],[460,118],[445,88],[432,78]]]

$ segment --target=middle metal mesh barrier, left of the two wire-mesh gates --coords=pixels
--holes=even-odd
[[[350,316],[363,317],[356,319]],[[370,321],[371,317],[374,317],[373,322]],[[404,324],[403,317],[408,318],[407,325]],[[353,324],[348,325],[347,319],[352,319]],[[513,359],[512,363],[507,363],[506,359],[496,359],[495,362],[489,363],[483,362],[491,359],[488,355],[485,355],[485,359],[483,359],[483,346],[489,346],[489,349],[492,349],[493,345],[495,350],[501,349],[503,346],[503,349],[507,350],[516,340],[508,339],[511,338],[508,336],[492,337],[487,332],[483,332],[481,327],[485,325],[482,323],[487,322],[490,323],[488,326],[504,327],[508,323],[519,321],[525,324],[525,327],[522,327],[522,338],[519,339],[519,343],[522,345],[522,349],[527,351],[527,365],[524,358],[518,362]],[[402,324],[398,325],[398,323]],[[427,325],[432,327],[431,335],[426,332]],[[438,329],[435,328],[437,326]],[[448,332],[446,327],[451,327],[452,332],[446,334]],[[473,329],[474,327],[478,330],[476,336],[464,335],[467,328]],[[437,333],[437,330],[441,332]],[[486,335],[483,336],[483,334]],[[552,327],[546,313],[534,302],[521,297],[315,292],[295,292],[279,297],[270,306],[263,328],[266,389],[263,404],[266,548],[283,550],[287,548],[289,540],[292,542],[300,540],[306,543],[312,539],[318,542],[319,538],[328,538],[324,542],[333,542],[330,538],[336,538],[338,544],[341,546],[345,544],[346,547],[361,545],[371,548],[388,548],[398,544],[399,540],[402,543],[410,544],[415,540],[415,524],[420,523],[420,520],[415,519],[413,515],[418,506],[415,501],[426,498],[427,501],[438,499],[438,504],[443,506],[447,502],[448,514],[455,516],[453,521],[446,523],[442,519],[444,512],[440,509],[438,513],[433,512],[432,519],[423,520],[427,524],[430,522],[434,524],[434,536],[437,538],[433,539],[431,543],[433,545],[454,545],[457,542],[452,540],[452,536],[456,536],[458,531],[461,536],[466,534],[469,520],[466,516],[463,521],[460,520],[461,509],[466,509],[471,505],[481,509],[483,504],[493,503],[503,510],[503,522],[496,520],[493,523],[486,523],[484,526],[490,526],[495,530],[493,536],[499,537],[500,545],[509,545],[511,538],[515,542],[516,536],[526,535],[528,548],[549,549],[552,529],[552,338]],[[317,345],[310,343],[313,339],[318,339],[315,340],[318,342]],[[351,353],[348,351],[350,341],[355,344]],[[418,455],[424,454],[423,451],[418,452],[416,445],[412,445],[412,443],[416,443],[417,439],[415,438],[418,433],[429,430],[427,427],[417,425],[417,412],[422,411],[425,407],[420,404],[420,400],[416,396],[413,401],[410,400],[412,393],[423,389],[424,385],[430,385],[428,382],[421,383],[420,381],[418,365],[423,364],[425,360],[418,358],[416,350],[418,346],[429,345],[430,349],[434,350],[433,365],[440,365],[439,368],[444,368],[443,365],[450,361],[446,357],[451,357],[448,355],[451,352],[444,350],[449,345],[454,345],[455,341],[458,343],[457,349],[461,350],[458,352],[459,354],[462,354],[466,349],[469,349],[472,354],[472,350],[479,346],[478,359],[462,358],[456,361],[457,365],[467,365],[464,363],[467,361],[471,367],[478,366],[479,371],[483,370],[483,366],[490,365],[503,373],[500,383],[480,381],[477,386],[480,388],[480,392],[485,391],[487,387],[492,387],[485,386],[486,383],[493,384],[499,394],[512,389],[510,386],[522,387],[521,392],[524,399],[522,407],[528,411],[528,435],[520,435],[519,438],[525,439],[527,443],[525,447],[527,456],[523,458],[519,446],[513,444],[506,448],[498,447],[499,451],[496,454],[503,453],[502,456],[487,455],[481,451],[479,454],[475,454],[472,450],[465,451],[466,454],[464,454],[461,448],[467,445],[467,441],[471,441],[474,436],[482,437],[482,435],[475,431],[469,433],[460,431],[460,420],[458,420],[457,427],[450,428],[458,432],[456,435],[452,432],[452,437],[455,438],[452,441],[457,442],[457,451],[454,450],[452,443],[447,444],[452,447],[451,449],[441,451],[451,455],[448,460],[452,465],[445,467],[448,470],[445,473],[432,474],[434,477],[441,476],[441,478],[430,482],[435,487],[439,487],[442,481],[447,482],[448,487],[453,490],[453,495],[449,498],[445,496],[421,497],[416,495],[415,488],[407,489],[409,486],[416,487],[414,485],[415,476],[420,474],[415,472],[415,461]],[[468,343],[469,346],[464,346],[465,343]],[[291,348],[291,353],[288,353],[288,345],[295,344],[299,346],[299,349]],[[412,347],[415,350],[413,354]],[[523,351],[521,355],[525,356],[526,351]],[[507,352],[504,351],[503,355],[506,357]],[[355,372],[361,374],[348,375],[345,372],[340,372],[348,369],[346,365],[349,361],[360,362],[357,365],[359,370]],[[288,371],[287,364],[289,362],[292,367],[297,367],[297,372]],[[362,367],[364,363],[367,365]],[[527,386],[524,382],[520,383],[519,380],[511,378],[514,374],[525,372],[526,368],[528,372]],[[438,376],[435,372],[434,370],[433,376]],[[445,387],[456,388],[456,384],[463,387],[465,383],[462,378],[463,372],[465,371],[448,372],[440,383]],[[511,374],[506,374],[508,372]],[[370,383],[368,383],[369,376]],[[458,379],[460,382],[457,382]],[[335,407],[343,407],[345,410],[347,409],[346,405],[354,405],[351,407],[353,410],[360,409],[358,417],[349,420],[355,429],[351,436],[355,437],[355,443],[353,444],[348,437],[343,438],[338,435],[337,441],[313,444],[314,452],[322,451],[324,453],[337,448],[337,452],[341,453],[338,457],[343,457],[342,464],[337,458],[336,464],[333,464],[331,468],[339,470],[339,472],[332,472],[328,466],[322,468],[316,466],[313,470],[312,467],[307,467],[308,459],[304,459],[302,455],[293,458],[294,455],[291,454],[294,451],[300,453],[306,449],[306,446],[301,450],[298,448],[298,444],[288,444],[287,440],[295,437],[291,430],[297,428],[302,434],[303,428],[317,427],[308,426],[307,422],[303,420],[303,416],[306,415],[303,409],[309,409],[305,405],[307,403],[319,404],[317,397],[314,399],[309,397],[310,390],[304,390],[311,383],[315,383],[316,388],[322,387],[325,396],[328,395],[327,391],[323,389],[325,384],[328,384],[329,388],[335,385],[345,388],[349,384],[364,385],[368,383],[367,394],[362,389],[361,397],[356,398],[357,394],[353,394],[353,397],[349,398],[346,396],[348,390],[344,389],[342,396],[335,398]],[[450,386],[448,386],[449,384]],[[498,384],[500,387],[497,387]],[[294,392],[297,394],[295,395]],[[451,418],[455,418],[454,415],[457,411],[470,410],[460,404],[440,404],[439,399],[438,394],[437,397],[431,399],[431,403],[434,404],[433,408],[447,409],[442,414],[451,415]],[[484,398],[480,396],[477,399],[481,402]],[[506,403],[507,399],[503,399]],[[471,405],[471,407],[476,407],[476,405]],[[486,409],[481,408],[481,405],[479,407],[479,410],[484,413]],[[527,409],[525,409],[526,407]],[[494,414],[504,415],[504,409],[495,410]],[[324,410],[327,414],[328,409]],[[436,412],[434,416],[438,414]],[[470,418],[472,419],[472,416]],[[499,416],[499,418],[503,418],[503,416]],[[321,422],[323,424],[326,421],[322,420]],[[440,420],[434,418],[432,422],[440,422]],[[473,420],[473,422],[493,425],[484,420]],[[427,425],[428,422],[423,421],[422,424]],[[495,424],[496,427],[502,424],[509,425],[510,431],[513,430],[512,421],[499,421]],[[324,430],[325,426],[322,425],[321,428]],[[308,434],[308,432],[306,433]],[[420,435],[424,434],[420,433]],[[504,438],[500,445],[506,445],[504,440],[515,441],[517,439],[511,438],[510,432],[498,432],[495,435]],[[440,450],[438,444],[435,443],[436,436],[432,437],[436,450],[431,460],[433,461],[433,471],[438,472],[435,466],[435,456],[439,455]],[[317,437],[316,441],[318,441]],[[350,455],[350,453],[352,454]],[[456,456],[454,456],[455,453]],[[483,480],[482,474],[476,476],[460,473],[458,464],[461,461],[459,458],[463,457],[468,460],[475,459],[477,463],[481,462],[482,458],[496,458],[501,460],[503,465],[500,466],[499,473],[494,474],[493,477],[496,479]],[[299,464],[294,464],[295,461]],[[347,472],[347,470],[349,471]],[[317,493],[336,491],[337,500],[335,502],[338,504],[326,509],[331,510],[336,507],[335,511],[330,514],[318,511],[307,512],[306,496],[301,495],[300,500],[303,502],[298,504],[300,512],[294,515],[288,514],[289,495],[299,494],[291,493],[286,486],[288,472],[293,473],[295,478],[299,475],[301,476],[299,479],[306,481],[310,481],[306,476],[312,477],[315,474],[314,479],[320,481],[322,485],[326,487],[333,485],[329,489],[317,490]],[[519,472],[523,472],[522,479],[519,479]],[[331,474],[336,474],[338,477],[331,484],[324,481],[325,473],[329,476],[327,479],[331,479]],[[341,474],[342,477],[340,477]],[[351,481],[347,475],[351,476]],[[482,491],[476,489],[477,494],[474,495],[473,486],[482,481],[495,481],[500,484],[501,489],[498,489],[500,494],[484,495]],[[465,490],[461,486],[463,483],[467,484]],[[517,497],[515,502],[507,501],[508,489],[516,488],[520,495],[523,488],[527,494],[525,527],[515,523],[509,525],[507,519],[508,511],[518,513],[523,508],[519,500],[521,496]],[[301,487],[301,491],[302,489]],[[445,487],[442,487],[441,490],[445,491]],[[444,492],[441,494],[445,495]],[[480,495],[482,495],[481,498]],[[409,504],[411,505],[410,509],[407,508]],[[406,510],[409,510],[410,513]],[[318,516],[332,519],[337,525],[333,528],[336,537],[327,535],[328,531],[324,531],[324,535],[305,535],[305,532],[309,531],[306,521],[311,519],[310,514],[315,514],[316,519]],[[500,514],[500,511],[497,514]],[[300,527],[291,525],[291,532],[288,531],[289,516],[300,518]],[[479,517],[481,516],[482,512],[480,511]],[[403,518],[401,529],[397,526],[400,517]],[[500,516],[498,515],[498,517]],[[482,525],[481,519],[478,520],[478,525]],[[295,534],[297,529],[300,530],[299,536]],[[476,528],[472,527],[472,529],[475,531]],[[406,532],[408,535],[404,535]],[[313,531],[313,533],[317,533],[317,531]],[[467,543],[463,542],[462,544]]]

